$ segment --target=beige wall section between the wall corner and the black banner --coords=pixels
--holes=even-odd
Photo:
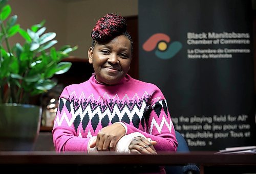
[[[91,31],[100,17],[107,13],[121,16],[138,15],[138,0],[111,1],[70,1],[67,10],[67,42],[77,44],[74,54],[87,58],[88,48],[92,44]]]

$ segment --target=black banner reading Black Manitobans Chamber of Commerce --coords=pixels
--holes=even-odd
[[[250,0],[139,1],[139,78],[191,151],[255,145]]]

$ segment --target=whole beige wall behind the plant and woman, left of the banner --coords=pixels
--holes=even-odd
[[[47,32],[55,32],[56,47],[78,45],[71,55],[88,58],[91,31],[96,21],[106,13],[122,16],[138,15],[138,0],[9,0],[12,15],[18,15],[20,27],[27,29],[46,19]],[[21,37],[11,43],[23,42]]]

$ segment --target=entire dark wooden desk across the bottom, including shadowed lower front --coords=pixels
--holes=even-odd
[[[214,154],[214,152],[159,153],[158,155],[117,155],[102,152],[0,152],[0,168],[26,173],[136,173],[159,165],[200,166],[201,173],[255,173],[256,154]],[[148,172],[148,171],[147,171]]]

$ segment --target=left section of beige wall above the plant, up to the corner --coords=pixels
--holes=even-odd
[[[66,42],[66,19],[67,11],[66,4],[60,0],[9,0],[12,8],[11,15],[17,15],[17,23],[20,27],[27,30],[33,24],[40,23],[43,19],[46,20],[46,32],[55,32],[58,43],[56,47],[65,44]],[[24,39],[15,35],[11,38],[11,43],[23,43]]]

